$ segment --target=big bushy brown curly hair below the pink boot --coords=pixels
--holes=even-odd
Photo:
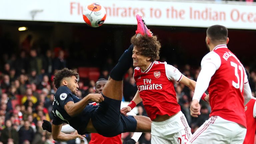
[[[157,40],[157,36],[148,37],[147,35],[131,38],[131,43],[136,46],[139,52],[146,57],[150,57],[150,61],[159,60],[161,44]]]

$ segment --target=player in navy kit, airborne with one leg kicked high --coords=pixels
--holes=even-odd
[[[131,45],[120,57],[110,72],[110,77],[101,94],[89,94],[83,99],[75,95],[78,90],[78,73],[64,68],[55,74],[57,91],[53,102],[52,136],[57,141],[67,141],[86,133],[99,133],[113,137],[123,132],[149,132],[151,120],[145,116],[120,115],[123,95],[123,76],[132,64]],[[100,103],[89,105],[89,101]],[[63,123],[77,130],[73,135],[61,132]]]

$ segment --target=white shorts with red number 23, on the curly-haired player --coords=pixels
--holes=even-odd
[[[187,119],[181,111],[168,120],[151,124],[151,144],[186,144],[191,136]]]

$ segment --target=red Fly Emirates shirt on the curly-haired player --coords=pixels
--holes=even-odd
[[[144,72],[136,67],[134,79],[140,97],[151,120],[156,115],[174,115],[180,111],[173,81],[180,81],[182,74],[175,67],[154,61]]]

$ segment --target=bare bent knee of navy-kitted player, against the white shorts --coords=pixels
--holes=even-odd
[[[137,121],[137,127],[135,132],[150,132],[151,131],[151,123],[149,117],[145,116],[134,116]]]

